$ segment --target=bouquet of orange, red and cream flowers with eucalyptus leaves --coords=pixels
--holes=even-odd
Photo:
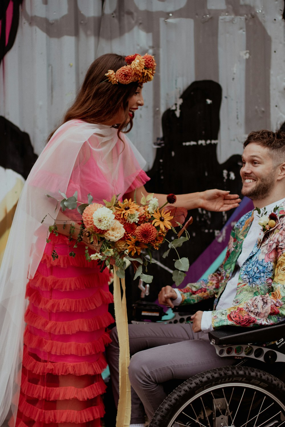
[[[94,252],[89,253],[90,247],[85,246],[85,257],[88,261],[97,260],[102,270],[106,266],[115,264],[116,274],[119,278],[125,275],[126,260],[129,260],[135,267],[135,278],[140,278],[145,283],[151,283],[153,276],[147,275],[147,264],[152,262],[152,252],[160,248],[164,243],[168,243],[168,250],[163,254],[167,257],[170,249],[174,249],[178,259],[175,260],[173,281],[178,286],[188,271],[189,261],[186,257],[179,257],[177,247],[182,246],[189,239],[187,226],[191,224],[192,218],[183,226],[182,223],[187,215],[185,208],[175,208],[165,205],[176,202],[176,196],[169,194],[167,202],[159,207],[158,199],[153,194],[145,197],[142,194],[141,202],[136,200],[118,200],[118,196],[113,196],[112,200],[103,200],[105,205],[92,203],[93,198],[88,194],[88,203],[83,204],[77,201],[77,192],[72,197],[67,197],[59,192],[63,199],[60,202],[62,211],[65,209],[76,209],[82,215],[79,234],[74,242],[74,222],[70,224],[69,240],[71,246],[77,247],[79,242],[90,243],[94,246]],[[48,197],[51,197],[47,195]],[[64,225],[64,227],[66,224]],[[180,227],[179,233],[174,227]],[[167,233],[172,230],[176,234],[173,240],[167,240]],[[57,224],[54,222],[49,228],[50,233],[58,232]],[[182,233],[185,236],[182,236]],[[49,239],[47,239],[47,242]],[[75,253],[71,250],[70,256]],[[57,257],[53,251],[53,258]],[[144,272],[143,272],[144,269]]]

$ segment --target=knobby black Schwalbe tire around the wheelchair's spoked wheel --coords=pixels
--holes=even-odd
[[[179,413],[185,410],[183,408],[187,407],[187,404],[194,404],[195,396],[201,393],[206,396],[207,389],[213,386],[217,389],[221,388],[221,384],[227,387],[230,383],[241,383],[242,388],[248,388],[248,392],[251,391],[251,386],[258,389],[260,393],[266,390],[276,398],[277,402],[281,402],[282,414],[285,414],[285,384],[281,380],[267,372],[248,366],[225,366],[198,374],[173,390],[157,409],[149,427],[172,427]],[[285,423],[282,425],[285,426]],[[192,421],[191,426],[200,427],[200,424]]]

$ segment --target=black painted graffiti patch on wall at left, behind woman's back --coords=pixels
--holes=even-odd
[[[0,135],[0,166],[12,169],[26,179],[38,158],[29,135],[3,116],[0,116]]]

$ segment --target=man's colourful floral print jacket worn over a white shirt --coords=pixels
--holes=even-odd
[[[278,208],[276,225],[259,235],[241,266],[233,307],[212,311],[214,329],[226,325],[254,327],[285,320],[285,207]],[[181,304],[194,304],[215,296],[214,308],[231,278],[241,247],[253,220],[253,211],[235,224],[226,257],[207,280],[180,289]]]

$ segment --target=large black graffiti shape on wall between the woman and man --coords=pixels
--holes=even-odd
[[[214,141],[218,139],[220,128],[221,94],[218,83],[196,81],[181,96],[183,102],[179,117],[173,109],[165,111],[162,116],[164,146],[157,149],[153,168],[148,172],[151,181],[146,184],[147,190],[182,194],[219,188],[240,194],[241,156],[233,155],[223,164],[217,161],[217,143]],[[194,218],[189,227],[191,237],[179,248],[179,255],[187,256],[193,263],[214,240],[215,230],[223,227],[226,217],[222,213],[209,214],[197,209],[192,210],[191,215]],[[172,259],[175,254],[163,259],[164,250],[156,252],[153,257],[174,269]],[[154,300],[159,289],[165,284],[172,284],[172,279],[169,273],[157,266],[150,267],[148,274],[156,278],[150,295],[150,300]]]

